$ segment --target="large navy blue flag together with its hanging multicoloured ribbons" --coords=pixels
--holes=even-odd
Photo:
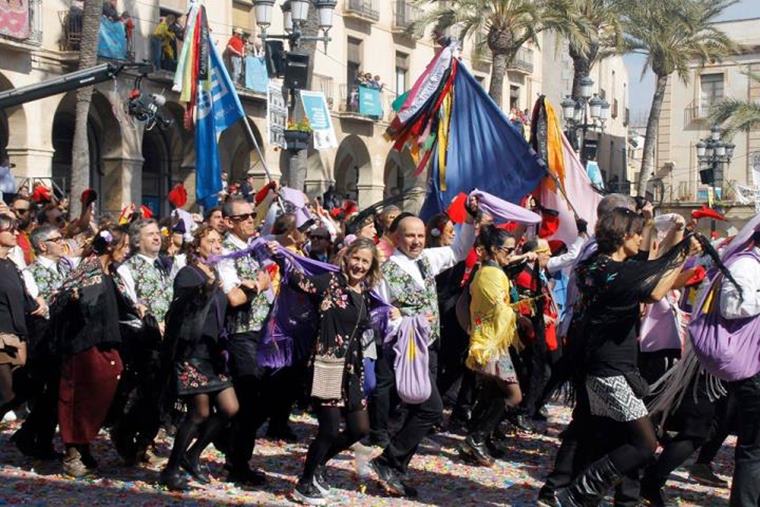
[[[545,165],[491,100],[450,45],[441,49],[411,90],[394,102],[386,135],[409,148],[417,174],[431,166],[423,218],[446,209],[475,186],[519,203],[546,174]]]

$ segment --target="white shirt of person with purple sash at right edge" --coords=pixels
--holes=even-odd
[[[760,249],[755,247],[760,255]],[[724,279],[720,287],[720,314],[726,319],[741,319],[760,315],[760,262],[741,257],[728,271],[742,288],[742,299],[734,284]]]

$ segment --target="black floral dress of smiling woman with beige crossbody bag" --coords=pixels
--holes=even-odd
[[[312,296],[319,309],[319,338],[314,353],[346,359],[341,399],[318,400],[319,403],[344,407],[349,413],[366,409],[362,337],[371,327],[366,293],[351,290],[343,273],[310,277],[292,270],[288,283]]]

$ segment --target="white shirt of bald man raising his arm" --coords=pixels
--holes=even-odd
[[[472,248],[472,244],[475,241],[475,228],[472,224],[463,224],[462,229],[454,239],[454,244],[451,246],[442,246],[437,248],[426,248],[415,259],[409,258],[405,253],[396,249],[393,255],[386,262],[395,262],[398,266],[417,284],[420,290],[425,288],[425,280],[420,273],[420,268],[417,265],[417,261],[426,258],[430,263],[430,269],[432,269],[432,275],[436,276],[442,271],[445,271],[455,265],[457,262],[463,261],[467,258],[467,254]],[[391,297],[391,290],[388,283],[385,280],[381,280],[377,286],[378,294],[389,303],[393,304],[393,297]],[[401,319],[395,319],[388,322],[388,334],[395,333],[401,325]]]

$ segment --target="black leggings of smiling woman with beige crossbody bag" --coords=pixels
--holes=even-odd
[[[319,430],[306,453],[301,484],[310,484],[317,467],[324,465],[342,451],[369,434],[369,415],[366,410],[346,414],[346,429],[340,433],[341,409],[322,406],[317,409]]]

